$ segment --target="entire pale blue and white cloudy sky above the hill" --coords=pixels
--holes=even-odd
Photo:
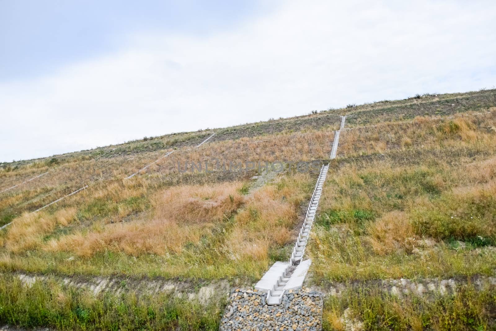
[[[496,1],[0,0],[0,161],[496,85]]]

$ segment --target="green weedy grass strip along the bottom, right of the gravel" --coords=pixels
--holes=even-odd
[[[344,330],[346,322],[363,330],[495,330],[496,288],[458,288],[456,295],[402,298],[370,286],[348,287],[324,303],[324,330]],[[340,320],[346,314],[346,322]],[[348,330],[348,329],[346,329]]]

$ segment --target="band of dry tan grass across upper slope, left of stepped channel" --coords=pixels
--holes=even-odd
[[[305,133],[280,132],[253,138],[242,137],[237,140],[209,142],[197,149],[187,146],[179,148],[170,157],[152,165],[147,172],[153,173],[160,169],[162,173],[178,173],[177,162],[179,161],[184,165],[186,160],[197,163],[205,159],[219,158],[233,161],[260,160],[271,162],[275,160],[299,161],[323,158],[329,153],[333,136],[334,132],[332,130],[307,129]],[[50,172],[47,175],[24,184],[11,193],[26,189],[58,187],[61,184],[64,187],[79,188],[82,184],[95,181],[112,178],[121,179],[155,161],[164,155],[166,151],[142,152],[129,156],[119,155],[98,160],[73,158],[60,166],[52,168],[32,169],[28,166],[23,166],[21,169],[11,172],[5,172],[0,169],[0,177],[2,178],[0,191],[48,170]]]

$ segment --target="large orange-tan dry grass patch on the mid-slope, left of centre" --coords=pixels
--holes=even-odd
[[[78,231],[52,239],[48,251],[91,256],[105,250],[129,255],[180,253],[187,242],[196,243],[211,226],[229,218],[243,203],[242,183],[215,186],[179,186],[158,192],[151,220],[107,224],[98,231]]]

